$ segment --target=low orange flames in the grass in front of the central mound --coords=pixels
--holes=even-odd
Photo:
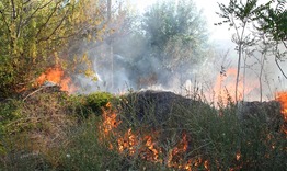
[[[100,126],[100,132],[105,140],[111,140],[111,136],[117,139],[116,147],[110,142],[110,149],[116,149],[124,156],[139,157],[150,162],[167,164],[170,168],[191,171],[204,164],[208,170],[207,160],[203,161],[202,158],[186,159],[188,136],[185,132],[182,133],[182,138],[174,147],[164,150],[158,141],[159,132],[152,130],[145,134],[131,128],[123,132],[118,128],[120,123],[122,121],[117,116],[117,111],[112,110],[111,103],[107,103],[103,110],[103,125]],[[102,141],[103,138],[100,137],[100,140]]]

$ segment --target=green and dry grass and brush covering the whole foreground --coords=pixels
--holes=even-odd
[[[101,110],[111,110],[105,107],[108,101],[120,123],[103,136]],[[43,92],[25,101],[1,102],[0,170],[180,170],[179,166],[168,167],[168,160],[175,147],[181,148],[183,134],[188,139],[187,150],[172,160],[185,164],[200,159],[198,166],[190,164],[193,170],[205,170],[207,164],[210,170],[287,168],[286,135],[257,116],[248,123],[240,121],[232,103],[216,110],[205,102],[187,105],[191,103],[176,101],[160,117],[154,103],[142,104],[145,114],[139,117],[137,96],[133,95]],[[129,129],[138,141],[134,155],[128,148],[118,150],[117,140]],[[161,149],[161,162],[145,158],[149,151],[145,136],[151,136],[154,148]]]

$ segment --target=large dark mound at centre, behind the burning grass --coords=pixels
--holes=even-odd
[[[123,119],[151,127],[181,127],[186,115],[211,110],[205,104],[168,91],[139,91],[124,96],[120,103]]]

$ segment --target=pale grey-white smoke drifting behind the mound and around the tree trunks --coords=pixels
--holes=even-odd
[[[140,1],[141,2],[141,1]],[[195,1],[196,2],[196,1]],[[208,5],[207,5],[208,7]],[[210,9],[205,9],[205,15],[210,16]],[[214,9],[215,11],[215,9]],[[218,10],[216,10],[218,11]],[[214,18],[210,16],[208,21],[214,22]],[[210,25],[210,23],[209,23]],[[215,31],[214,29],[211,29]],[[220,29],[220,32],[213,34],[226,34],[228,32],[225,29]],[[218,30],[217,30],[218,31]],[[220,36],[214,37],[220,37]],[[227,37],[227,36],[225,36]],[[231,35],[230,35],[231,38]],[[213,39],[216,48],[210,49],[208,58],[205,62],[197,66],[190,66],[190,68],[177,68],[176,71],[168,70],[163,68],[158,58],[150,58],[142,56],[141,58],[130,58],[127,56],[120,56],[116,52],[125,52],[129,56],[133,56],[139,52],[147,50],[148,47],[142,46],[140,39],[128,39],[125,36],[114,37],[113,49],[114,53],[110,53],[110,43],[85,43],[84,46],[91,47],[88,50],[88,56],[92,57],[94,70],[97,75],[97,81],[91,81],[91,79],[83,76],[76,76],[78,84],[80,84],[80,93],[90,93],[94,91],[107,91],[112,93],[127,92],[129,90],[169,90],[176,93],[192,92],[195,88],[205,89],[205,91],[211,92],[215,83],[215,79],[220,75],[221,66],[228,68],[236,68],[237,66],[237,53],[233,50],[234,45],[229,39]],[[120,41],[118,41],[120,39]],[[125,43],[126,39],[126,43]],[[128,45],[133,46],[128,46]],[[219,52],[230,50],[227,58],[222,59],[218,54]],[[226,60],[219,62],[219,60]],[[249,59],[251,64],[251,59]],[[252,69],[246,70],[246,84],[249,80],[256,80],[259,72],[259,65],[254,65]],[[282,64],[282,68],[287,72],[286,64]],[[180,71],[179,71],[180,70]],[[274,99],[275,91],[286,90],[287,81],[280,75],[278,68],[274,62],[274,57],[271,57],[266,61],[266,68],[264,73],[264,100]],[[250,86],[252,87],[252,84]],[[208,98],[211,99],[213,94]],[[259,100],[259,89],[255,88],[245,96],[246,100]]]

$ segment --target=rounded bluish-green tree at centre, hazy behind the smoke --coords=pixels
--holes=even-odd
[[[141,27],[147,38],[149,58],[157,58],[160,68],[181,72],[205,59],[207,30],[196,5],[190,0],[163,1],[144,14]]]

